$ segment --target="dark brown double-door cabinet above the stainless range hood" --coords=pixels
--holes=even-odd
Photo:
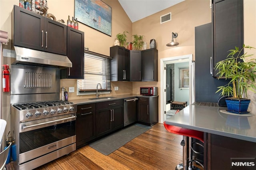
[[[67,55],[67,26],[14,5],[12,11],[14,45]]]

